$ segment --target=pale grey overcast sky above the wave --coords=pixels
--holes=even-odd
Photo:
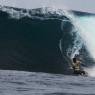
[[[0,5],[27,9],[54,7],[95,13],[95,0],[0,0]]]

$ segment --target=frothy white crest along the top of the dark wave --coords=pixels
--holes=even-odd
[[[0,10],[10,14],[12,18],[20,19],[22,17],[32,18],[33,16],[39,17],[60,17],[64,16],[65,12],[62,9],[53,9],[51,7],[37,8],[37,9],[20,9],[14,7],[0,6]]]

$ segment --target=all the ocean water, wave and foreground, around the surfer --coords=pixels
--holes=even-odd
[[[95,14],[0,6],[0,95],[95,95],[94,26]]]

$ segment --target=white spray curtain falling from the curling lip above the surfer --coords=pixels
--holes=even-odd
[[[66,17],[69,18],[69,20],[63,20],[62,22],[63,23],[69,22],[72,24],[72,30],[70,31],[70,34],[72,37],[74,37],[74,41],[73,41],[73,45],[70,45],[69,48],[67,49],[67,56],[69,56],[72,59],[75,56],[80,55],[80,50],[82,49],[83,42],[82,42],[81,36],[79,35],[79,29],[76,25],[76,19],[75,19],[74,14],[69,11],[64,11],[64,14]],[[63,30],[62,26],[64,25],[63,23],[61,25],[62,30]]]

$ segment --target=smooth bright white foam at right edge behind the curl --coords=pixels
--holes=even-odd
[[[95,60],[95,16],[76,18],[76,21],[79,34],[90,56]]]

